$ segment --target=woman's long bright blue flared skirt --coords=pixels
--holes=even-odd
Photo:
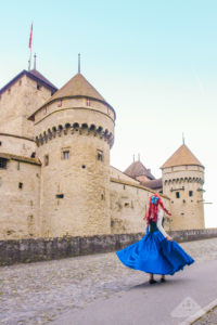
[[[119,260],[128,268],[153,274],[170,274],[183,270],[194,260],[175,240],[169,242],[157,230],[144,237],[116,251]]]

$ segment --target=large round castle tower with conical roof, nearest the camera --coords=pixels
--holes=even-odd
[[[113,107],[78,73],[29,119],[42,162],[42,235],[108,234]]]

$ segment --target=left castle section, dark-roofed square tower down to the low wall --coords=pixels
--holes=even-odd
[[[0,239],[40,236],[40,161],[27,117],[58,89],[23,70],[0,89]]]

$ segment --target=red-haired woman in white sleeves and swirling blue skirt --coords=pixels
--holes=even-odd
[[[150,284],[156,283],[154,274],[161,274],[161,282],[165,275],[173,275],[184,265],[190,265],[194,260],[165,232],[164,212],[171,216],[165,208],[158,194],[150,197],[144,237],[116,251],[119,260],[128,268],[150,273]]]

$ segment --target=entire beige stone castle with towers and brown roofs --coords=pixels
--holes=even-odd
[[[36,68],[0,90],[0,239],[144,231],[150,196],[167,230],[204,229],[204,167],[182,144],[155,179],[110,166],[114,108],[78,73],[60,90]]]

